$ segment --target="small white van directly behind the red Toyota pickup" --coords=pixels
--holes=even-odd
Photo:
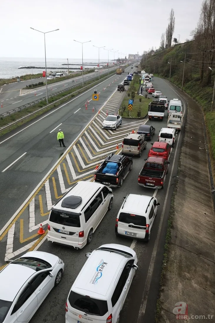
[[[149,241],[151,228],[158,212],[155,197],[128,194],[117,214],[115,233],[126,237]]]

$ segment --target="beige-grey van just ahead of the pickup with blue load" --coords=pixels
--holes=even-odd
[[[122,142],[122,155],[138,155],[138,157],[141,157],[141,152],[146,147],[145,135],[129,133]]]

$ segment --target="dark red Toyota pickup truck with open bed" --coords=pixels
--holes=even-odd
[[[169,161],[162,157],[149,157],[144,160],[146,163],[139,173],[138,184],[154,189],[163,188],[169,169]]]

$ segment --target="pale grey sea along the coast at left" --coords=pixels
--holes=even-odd
[[[69,71],[77,71],[78,68],[80,69],[82,65],[82,59],[80,58],[68,58],[69,64]],[[94,68],[97,67],[98,59],[84,59],[84,68]],[[107,60],[100,59],[100,64],[107,64]],[[64,70],[67,72],[66,69],[62,69],[62,67],[66,68],[67,59],[65,58],[46,58],[46,66],[47,66],[47,74],[51,71],[51,68],[59,68],[59,71]],[[93,64],[91,66],[85,64]],[[21,68],[20,67],[27,67],[27,66],[35,66],[35,67],[42,67],[42,68]],[[45,70],[45,58],[25,58],[25,57],[0,57],[0,78],[17,78],[22,75],[26,74],[38,74],[42,73]],[[57,69],[52,70],[52,72],[57,72]]]

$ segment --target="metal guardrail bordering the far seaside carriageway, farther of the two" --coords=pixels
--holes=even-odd
[[[114,72],[115,72],[116,70],[114,70]],[[107,72],[108,73],[108,72]],[[103,75],[105,75],[105,74],[107,74],[107,73],[104,73]],[[108,75],[112,75],[112,74],[114,74],[113,72],[112,73],[110,73],[110,74],[108,74]],[[96,79],[96,78],[98,78],[97,76],[96,77],[94,77],[94,78],[90,78],[89,80],[87,80],[87,81],[84,81],[84,84],[86,84],[87,82],[89,82],[89,81],[93,81],[94,79]],[[53,97],[55,97],[55,96],[57,96],[58,94],[60,94],[60,93],[64,93],[64,92],[66,92],[66,91],[69,91],[69,90],[71,90],[71,89],[74,89],[74,88],[76,88],[77,86],[79,86],[80,84],[82,84],[82,81],[81,82],[79,82],[79,83],[76,83],[75,85],[73,85],[73,86],[70,86],[70,87],[68,87],[68,88],[66,88],[66,89],[63,89],[63,90],[60,90],[60,91],[57,91],[57,92],[55,92],[55,93],[53,93],[53,94],[50,94],[50,95],[48,95],[48,99],[49,98],[53,98]],[[36,89],[36,88],[35,88]],[[84,89],[84,87],[82,88],[82,89]],[[75,92],[74,92],[75,93]],[[46,100],[46,97],[43,97],[43,98],[40,98],[40,99],[36,99],[35,101],[32,101],[32,102],[28,102],[28,103],[26,103],[26,104],[24,104],[24,105],[21,105],[20,107],[18,107],[18,108],[15,108],[15,109],[12,109],[12,110],[9,110],[9,111],[6,111],[6,112],[4,112],[4,113],[1,113],[0,114],[0,119],[4,119],[4,117],[10,117],[11,116],[11,114],[14,114],[14,113],[16,113],[16,112],[19,112],[19,111],[21,111],[21,110],[23,110],[23,109],[26,109],[26,108],[30,108],[30,107],[32,107],[32,106],[35,106],[35,104],[38,104],[39,102],[41,102],[41,101],[43,101],[43,100]],[[54,103],[54,101],[52,102],[52,103]],[[1,128],[0,128],[1,129]]]

